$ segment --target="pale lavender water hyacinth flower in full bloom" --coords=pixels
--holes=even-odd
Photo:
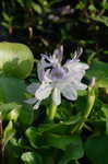
[[[63,46],[56,49],[52,56],[43,55],[37,66],[37,73],[40,83],[33,83],[27,91],[35,95],[26,103],[34,104],[37,108],[40,102],[52,95],[52,102],[56,106],[61,104],[61,95],[69,101],[77,98],[77,91],[85,90],[87,85],[81,82],[88,69],[88,65],[80,62],[76,55],[73,59],[61,65],[63,57]]]

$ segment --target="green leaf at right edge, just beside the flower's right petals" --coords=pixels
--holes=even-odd
[[[103,61],[94,61],[86,73],[88,79],[96,78],[98,87],[108,87],[108,65]]]

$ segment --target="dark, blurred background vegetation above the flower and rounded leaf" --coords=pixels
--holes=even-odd
[[[28,45],[37,58],[64,45],[67,55],[83,47],[108,61],[107,0],[1,0],[0,40]]]

